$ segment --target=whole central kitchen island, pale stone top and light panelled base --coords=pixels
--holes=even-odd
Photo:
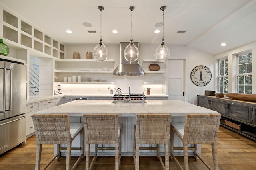
[[[66,104],[45,109],[37,113],[68,113],[70,122],[83,122],[83,115],[88,113],[117,113],[118,121],[122,131],[122,155],[132,156],[133,133],[136,124],[136,114],[138,113],[170,113],[171,122],[184,122],[187,113],[217,113],[216,111],[196,106],[181,100],[145,100],[141,103],[112,103],[113,100],[74,100]],[[80,140],[76,140],[72,145],[80,145]],[[106,145],[108,146],[108,145]],[[145,147],[150,145],[145,144]],[[182,143],[178,137],[174,139],[174,146],[181,147]],[[170,147],[170,146],[169,146]],[[94,151],[94,148],[90,150]],[[154,151],[143,150],[141,155],[155,155]],[[191,150],[192,151],[192,150]],[[160,146],[160,152],[164,152],[164,147]],[[200,153],[200,147],[198,147]],[[75,152],[72,153],[76,155]],[[93,155],[93,153],[91,153]],[[103,151],[99,155],[114,155],[114,152]],[[174,155],[182,155],[180,150],[175,150]],[[192,155],[192,153],[190,153]]]

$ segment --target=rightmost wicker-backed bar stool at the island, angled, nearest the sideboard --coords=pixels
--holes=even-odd
[[[185,123],[171,123],[171,160],[176,161],[180,169],[183,170],[178,160],[173,155],[173,150],[182,150],[184,154],[185,170],[188,170],[188,149],[194,150],[195,160],[199,158],[208,169],[211,169],[204,160],[197,154],[197,144],[212,144],[212,156],[214,170],[218,170],[217,156],[217,137],[220,126],[219,113],[211,114],[187,114]],[[183,148],[174,148],[174,133],[182,140]],[[188,144],[194,144],[194,147],[188,148]]]

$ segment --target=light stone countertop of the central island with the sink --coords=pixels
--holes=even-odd
[[[113,100],[74,100],[37,113],[68,113],[82,117],[84,113],[118,113],[120,117],[135,117],[137,113],[170,113],[186,116],[187,113],[217,113],[181,100],[145,100],[146,104],[112,104]]]

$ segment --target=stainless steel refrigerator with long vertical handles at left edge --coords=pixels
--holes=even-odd
[[[26,142],[26,70],[0,58],[0,154]]]

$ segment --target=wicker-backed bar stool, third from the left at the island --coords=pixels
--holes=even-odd
[[[157,150],[157,158],[162,168],[169,170],[170,114],[137,114],[134,126],[133,158],[135,169],[140,168],[140,150]],[[139,147],[140,144],[157,144],[157,147]],[[159,144],[164,144],[165,165],[160,157]]]

